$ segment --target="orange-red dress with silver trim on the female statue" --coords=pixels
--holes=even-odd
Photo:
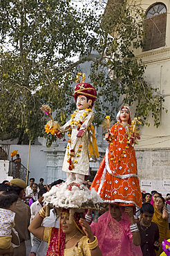
[[[129,144],[129,125],[111,127],[112,140],[93,180],[95,188],[106,203],[122,206],[142,206],[142,194],[137,176],[135,150]]]

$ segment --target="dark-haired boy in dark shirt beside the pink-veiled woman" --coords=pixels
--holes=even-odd
[[[141,237],[141,249],[144,256],[155,256],[155,250],[160,247],[158,225],[152,222],[154,208],[151,203],[143,203],[140,208],[141,219],[138,228]]]

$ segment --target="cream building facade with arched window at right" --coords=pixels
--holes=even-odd
[[[147,192],[170,191],[170,1],[135,1],[144,10],[147,24],[145,46],[135,51],[135,56],[147,65],[145,79],[159,89],[164,97],[166,111],[160,113],[160,126],[141,129],[141,140],[136,147],[138,175],[141,189]]]

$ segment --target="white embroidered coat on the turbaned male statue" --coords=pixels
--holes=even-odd
[[[88,175],[88,141],[90,135],[87,129],[91,125],[91,122],[93,122],[94,114],[93,111],[88,111],[88,109],[77,109],[74,113],[75,115],[73,115],[73,117],[59,129],[62,133],[68,131],[69,128],[72,129],[71,134],[68,137],[68,145],[64,156],[62,170],[68,173]],[[79,130],[77,129],[77,125],[81,125]],[[82,137],[77,137],[78,132],[82,129],[85,130],[84,135]],[[74,149],[74,156],[70,156],[71,149]],[[70,163],[68,163],[69,159],[71,159],[71,163],[73,164],[72,170],[68,169],[70,165]]]

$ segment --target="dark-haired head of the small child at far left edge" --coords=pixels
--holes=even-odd
[[[18,195],[12,191],[6,191],[0,194],[0,208],[14,210],[18,200]]]

